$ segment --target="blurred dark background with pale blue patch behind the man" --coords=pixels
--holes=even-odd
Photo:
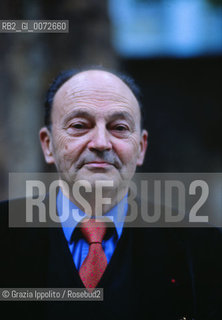
[[[69,20],[69,33],[0,33],[0,199],[8,173],[44,171],[38,131],[61,70],[103,65],[141,86],[145,172],[221,172],[222,1],[8,0],[0,19]]]

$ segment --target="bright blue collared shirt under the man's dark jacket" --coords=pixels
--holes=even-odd
[[[115,231],[108,239],[104,239],[102,247],[105,252],[107,263],[109,263],[117,242],[121,237],[123,231],[124,219],[128,209],[127,196],[125,196],[115,207],[105,214],[109,218],[114,226]],[[83,261],[85,260],[88,251],[89,244],[83,237],[73,237],[74,230],[77,224],[87,215],[81,211],[73,202],[71,202],[66,196],[63,195],[61,189],[57,195],[57,211],[61,219],[63,232],[70,252],[73,256],[74,264],[77,270],[80,269]]]

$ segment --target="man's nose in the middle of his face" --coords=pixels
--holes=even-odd
[[[112,149],[109,132],[107,132],[105,126],[94,128],[90,142],[88,143],[88,148],[91,151],[105,151]]]

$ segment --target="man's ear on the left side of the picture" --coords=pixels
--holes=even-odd
[[[49,164],[55,163],[53,152],[52,152],[51,132],[46,127],[43,127],[39,131],[39,138],[42,146],[42,151],[45,157],[45,161]]]

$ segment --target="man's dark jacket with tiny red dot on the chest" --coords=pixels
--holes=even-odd
[[[83,287],[61,228],[9,228],[8,202],[0,222],[2,288]],[[4,301],[1,310],[9,319],[221,320],[221,231],[124,228],[98,287],[100,302]]]

